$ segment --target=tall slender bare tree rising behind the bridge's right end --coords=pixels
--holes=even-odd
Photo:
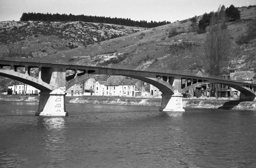
[[[212,16],[210,25],[208,27],[208,34],[205,41],[205,56],[206,56],[206,70],[209,75],[220,75],[221,67],[224,65],[224,61],[227,58],[230,36],[227,30],[226,14],[224,7],[217,10]],[[212,84],[212,91],[210,96],[215,96],[215,92],[218,90],[218,85]],[[216,98],[218,94],[216,94]]]

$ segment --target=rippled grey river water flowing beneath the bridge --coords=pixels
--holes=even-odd
[[[255,168],[256,111],[0,101],[2,168]]]

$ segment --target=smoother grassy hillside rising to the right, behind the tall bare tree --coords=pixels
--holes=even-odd
[[[231,46],[224,66],[250,70],[256,68],[256,39],[242,41],[249,25],[256,19],[256,8],[240,8],[241,19],[228,23]],[[198,16],[198,21],[201,16]],[[191,32],[189,19],[146,29],[125,37],[79,47],[54,54],[54,57],[97,60],[170,69],[203,68],[207,33]],[[178,35],[172,36],[176,30]],[[171,35],[170,35],[171,34]],[[172,37],[168,37],[172,36]],[[242,44],[239,42],[242,41]],[[239,44],[238,44],[239,43]],[[110,54],[106,54],[109,52]]]

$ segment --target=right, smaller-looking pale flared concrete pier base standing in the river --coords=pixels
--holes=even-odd
[[[184,112],[182,94],[175,90],[174,94],[162,94],[161,108],[159,111]]]

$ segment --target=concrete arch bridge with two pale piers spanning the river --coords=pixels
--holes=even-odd
[[[25,73],[17,68],[25,68]],[[30,76],[30,69],[38,68],[38,78]],[[67,70],[74,70],[67,76]],[[40,92],[36,115],[68,116],[65,110],[65,92],[72,85],[85,79],[102,75],[121,75],[150,83],[162,92],[160,111],[184,111],[183,92],[206,83],[219,83],[241,92],[241,101],[256,101],[256,84],[237,82],[220,76],[197,75],[192,71],[173,71],[163,68],[144,68],[133,65],[84,62],[60,58],[20,58],[0,56],[0,76],[31,85]]]

